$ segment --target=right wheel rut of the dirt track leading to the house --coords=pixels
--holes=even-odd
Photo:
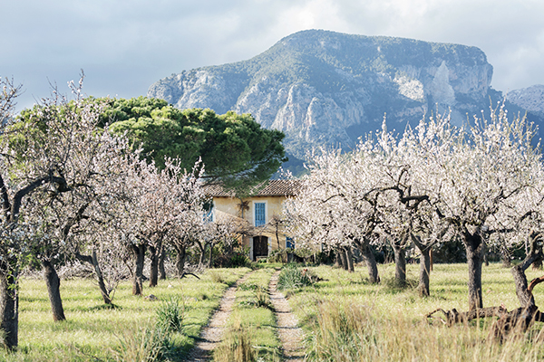
[[[304,361],[304,347],[302,339],[304,333],[302,329],[296,327],[296,317],[291,313],[289,302],[286,297],[277,291],[277,277],[280,271],[276,271],[270,279],[268,291],[270,292],[270,301],[276,310],[277,334],[281,341],[283,357],[287,361]]]

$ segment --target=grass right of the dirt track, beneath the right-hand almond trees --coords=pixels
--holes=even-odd
[[[431,297],[417,294],[419,265],[408,266],[408,288],[393,282],[394,265],[380,265],[381,285],[369,284],[364,268],[348,273],[327,266],[309,268],[324,281],[290,293],[290,304],[306,331],[310,361],[537,361],[544,357],[542,323],[503,344],[488,337],[492,319],[447,328],[424,316],[437,308],[468,310],[466,264],[435,265]],[[529,271],[529,280],[542,271]],[[411,286],[411,287],[410,287]],[[484,267],[485,306],[519,307],[510,270]],[[542,289],[535,291],[544,303]]]

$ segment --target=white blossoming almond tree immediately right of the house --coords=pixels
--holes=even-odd
[[[286,214],[297,245],[316,248],[324,244],[344,253],[357,247],[370,281],[379,282],[372,243],[377,241],[377,196],[383,187],[380,173],[374,169],[379,163],[366,162],[371,143],[362,143],[349,156],[341,150],[322,150],[320,156],[313,156],[310,174],[303,180],[300,194],[286,203]],[[350,254],[348,269],[352,269],[351,259]]]

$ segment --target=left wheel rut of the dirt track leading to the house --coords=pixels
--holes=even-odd
[[[244,275],[225,291],[225,294],[219,303],[219,310],[216,310],[209,320],[208,326],[200,333],[200,340],[189,353],[189,357],[187,357],[188,361],[204,362],[211,359],[211,352],[219,345],[219,342],[223,337],[225,324],[232,312],[232,307],[234,306],[234,301],[236,299],[238,284],[246,281],[250,274],[251,272],[248,272],[248,274]]]

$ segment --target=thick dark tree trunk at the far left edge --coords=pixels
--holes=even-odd
[[[2,344],[5,348],[13,350],[17,348],[19,342],[19,294],[15,271],[4,271],[0,274],[0,313]]]

